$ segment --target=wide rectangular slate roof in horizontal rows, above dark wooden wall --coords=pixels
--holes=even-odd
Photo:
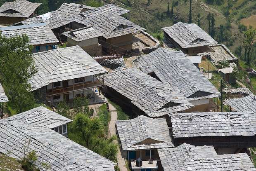
[[[171,115],[174,138],[255,136],[256,115],[248,112],[200,112]]]

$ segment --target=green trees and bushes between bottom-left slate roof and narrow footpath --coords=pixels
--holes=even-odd
[[[115,143],[116,136],[108,138],[110,113],[107,111],[107,105],[100,106],[97,116],[91,117],[93,111],[88,108],[88,100],[78,97],[73,101],[73,109],[69,109],[69,105],[64,101],[57,106],[57,112],[73,119],[68,126],[69,139],[116,162],[119,147]]]

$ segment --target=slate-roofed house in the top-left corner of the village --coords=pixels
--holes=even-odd
[[[33,3],[27,0],[15,0],[5,2],[0,7],[0,24],[12,24],[36,16],[36,9],[41,3]]]

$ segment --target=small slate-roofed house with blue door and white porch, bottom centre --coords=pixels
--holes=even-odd
[[[162,170],[157,149],[174,147],[165,118],[152,119],[142,115],[116,121],[116,129],[131,170]]]

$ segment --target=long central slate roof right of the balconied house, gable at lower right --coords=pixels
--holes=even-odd
[[[193,107],[182,95],[170,91],[167,84],[140,70],[119,67],[106,75],[104,83],[129,98],[149,117],[161,117]]]

